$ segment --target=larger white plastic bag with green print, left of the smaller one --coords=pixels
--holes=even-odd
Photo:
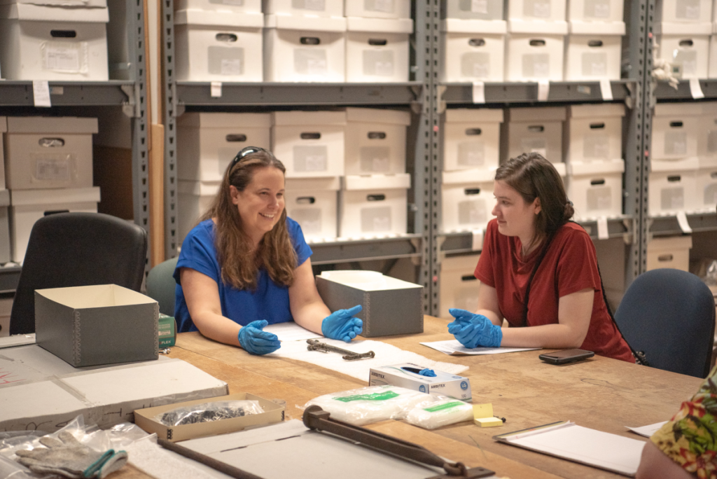
[[[305,407],[319,406],[333,419],[363,426],[386,419],[403,419],[426,394],[398,386],[369,386],[315,397]]]

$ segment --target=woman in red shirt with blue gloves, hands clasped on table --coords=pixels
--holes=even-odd
[[[493,192],[496,218],[475,268],[478,310],[452,308],[448,331],[468,348],[583,348],[634,363],[605,305],[595,247],[569,222],[574,210],[554,166],[523,153],[498,168]]]

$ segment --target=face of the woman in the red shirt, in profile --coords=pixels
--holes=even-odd
[[[493,215],[498,219],[498,232],[505,236],[517,236],[523,245],[529,245],[535,236],[536,215],[540,212],[540,199],[532,203],[504,181],[496,180],[493,187],[495,207]]]

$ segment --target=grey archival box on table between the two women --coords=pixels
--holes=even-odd
[[[364,338],[423,332],[423,287],[375,271],[324,271],[316,277],[321,299],[332,311],[364,309]]]

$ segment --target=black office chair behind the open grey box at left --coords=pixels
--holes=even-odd
[[[10,334],[34,333],[34,290],[115,284],[139,291],[147,233],[102,213],[57,213],[32,227],[10,313]]]

